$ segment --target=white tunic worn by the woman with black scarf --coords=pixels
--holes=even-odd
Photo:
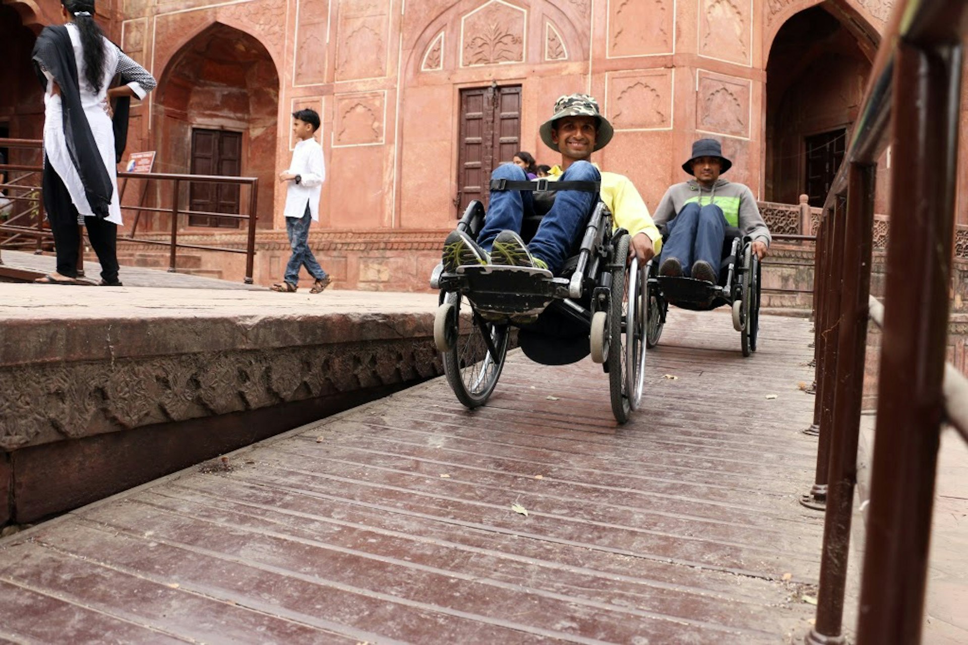
[[[111,119],[107,116],[105,109],[107,98],[107,85],[118,67],[118,57],[121,53],[118,48],[105,39],[105,70],[101,89],[94,91],[87,81],[84,68],[84,52],[80,47],[80,33],[76,25],[68,23],[68,34],[71,36],[71,43],[74,44],[74,57],[77,64],[77,80],[80,85],[80,104],[83,107],[84,115],[91,126],[94,140],[98,144],[98,152],[101,159],[105,162],[107,174],[111,178],[111,185],[114,192],[111,195],[111,203],[107,207],[107,221],[121,224],[121,203],[118,199],[117,165],[114,161],[114,130]],[[67,150],[67,141],[64,138],[64,122],[62,117],[61,97],[51,94],[53,89],[53,77],[50,73],[47,76],[47,90],[44,95],[45,103],[45,122],[44,122],[44,152],[50,166],[60,175],[64,186],[71,194],[71,201],[76,206],[77,213],[81,216],[94,217],[94,211],[87,203],[87,195],[84,193],[84,186],[80,182],[77,169],[71,161]],[[138,97],[143,97],[146,93],[137,83],[129,83],[135,90]],[[137,86],[137,87],[136,87]],[[150,89],[150,88],[149,88]]]

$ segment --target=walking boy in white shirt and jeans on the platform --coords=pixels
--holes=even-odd
[[[319,195],[326,178],[322,161],[322,148],[313,135],[319,129],[319,115],[313,109],[301,109],[292,113],[292,133],[299,142],[292,151],[292,161],[287,170],[279,173],[279,181],[287,183],[286,232],[292,255],[286,265],[286,275],[281,284],[273,284],[273,291],[295,293],[299,287],[299,268],[306,267],[315,281],[310,293],[319,293],[329,286],[329,276],[316,261],[310,250],[309,225],[319,220]]]

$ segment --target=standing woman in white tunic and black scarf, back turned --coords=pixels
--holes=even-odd
[[[126,96],[143,99],[156,82],[150,73],[106,39],[93,18],[93,0],[63,2],[61,14],[67,24],[61,28],[47,27],[45,32],[51,31],[42,33],[34,56],[46,79],[44,202],[57,250],[57,271],[38,281],[76,283],[79,223],[87,227],[88,239],[98,254],[102,284],[117,285],[120,281],[116,239],[121,204],[109,102]],[[41,45],[42,39],[46,46]],[[75,69],[71,69],[72,58]],[[93,69],[94,66],[100,70]],[[127,84],[108,89],[117,73]],[[83,120],[79,119],[80,115],[65,113],[72,104],[79,104]],[[83,132],[84,123],[93,139]],[[92,143],[96,150],[89,149]],[[90,169],[90,164],[98,163],[103,164],[106,175],[101,167]],[[98,190],[92,189],[92,184],[99,183],[91,181],[92,172],[101,180],[100,196],[95,194]],[[110,182],[109,187],[106,180]],[[108,193],[109,203],[105,203]]]

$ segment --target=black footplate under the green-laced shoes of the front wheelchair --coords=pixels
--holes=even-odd
[[[537,315],[568,291],[567,279],[545,269],[488,264],[458,267],[456,273],[475,308],[508,317]]]

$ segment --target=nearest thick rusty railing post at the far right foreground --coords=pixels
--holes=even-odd
[[[896,44],[877,427],[858,645],[921,641],[948,335],[960,45]]]

